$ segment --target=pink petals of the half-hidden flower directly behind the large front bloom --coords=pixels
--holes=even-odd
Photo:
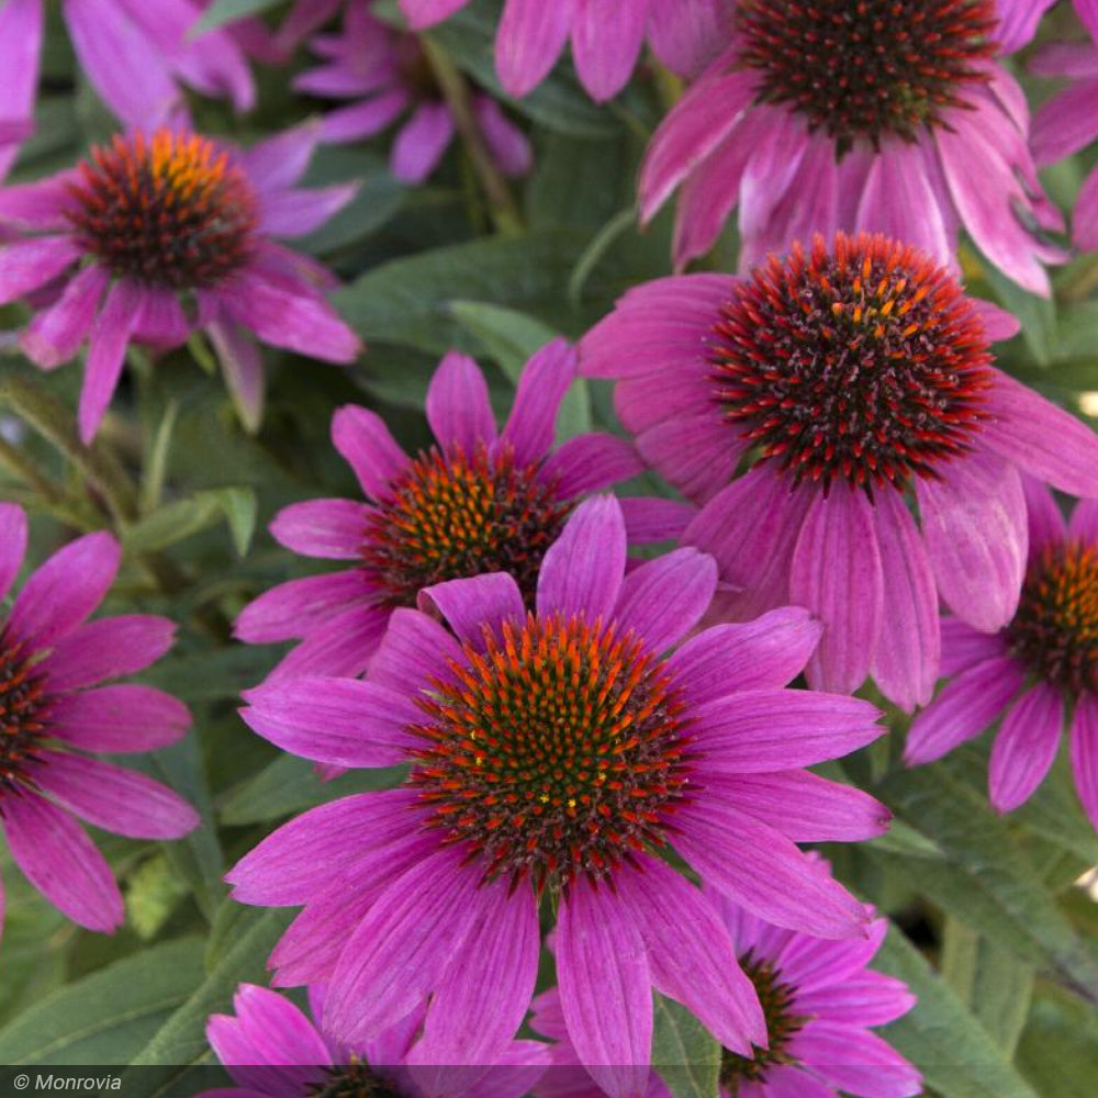
[[[442,459],[442,470],[483,453],[486,462],[506,460],[515,471],[528,473],[529,486],[554,512],[568,508],[584,494],[634,477],[643,463],[636,450],[609,434],[591,433],[553,446],[553,425],[561,401],[575,378],[575,351],[564,340],[539,350],[525,366],[511,414],[496,429],[488,384],[477,363],[451,351],[439,363],[427,391],[427,422]],[[397,495],[410,486],[414,461],[390,434],[384,421],[367,408],[347,406],[332,421],[332,440],[355,470],[368,502],[311,500],[285,507],[271,525],[274,539],[306,557],[355,561],[355,567],[325,575],[291,580],[260,595],[239,615],[236,636],[249,643],[300,640],[301,643],[272,672],[357,675],[366,670],[393,609],[400,603],[377,565],[367,562],[385,548],[408,551],[410,534],[388,546],[378,519],[392,509]],[[429,457],[421,453],[419,459]],[[464,493],[467,488],[458,485]],[[425,501],[422,506],[437,504]],[[497,509],[496,509],[497,508]],[[685,526],[690,508],[672,501],[623,501],[634,544],[675,537]],[[449,546],[435,550],[432,582],[463,579],[477,571],[495,571],[507,558],[530,558],[538,551],[537,535],[556,535],[519,522],[514,530],[502,501],[485,514],[484,529],[461,528],[467,519],[459,504],[455,514],[434,518],[426,513]],[[523,516],[519,515],[519,518]],[[535,518],[537,516],[534,516]],[[441,529],[438,529],[441,526]],[[495,539],[475,550],[478,535]],[[551,540],[551,537],[550,537]],[[544,552],[547,546],[540,551]],[[474,571],[467,571],[473,567]],[[425,573],[426,574],[426,573]],[[405,601],[412,605],[415,592]]]

